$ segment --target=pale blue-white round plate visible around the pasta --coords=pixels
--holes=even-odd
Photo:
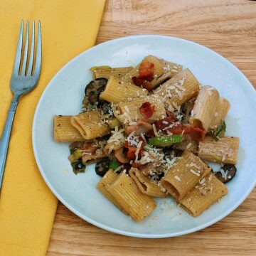
[[[100,177],[94,166],[75,176],[68,161],[68,144],[53,140],[53,115],[78,114],[85,85],[95,65],[136,65],[146,55],[156,55],[190,68],[202,85],[212,85],[231,102],[227,134],[240,137],[238,172],[228,195],[202,215],[193,218],[169,199],[142,223],[135,223],[107,201],[95,188]],[[255,187],[255,90],[238,68],[204,46],[168,36],[129,36],[86,50],[65,65],[50,81],[38,103],[33,121],[33,150],[41,174],[57,198],[89,223],[114,233],[138,238],[166,238],[201,230],[237,208]],[[40,198],[38,198],[40,200]]]

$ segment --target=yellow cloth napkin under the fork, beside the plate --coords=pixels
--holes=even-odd
[[[0,1],[0,134],[12,98],[9,82],[21,19],[25,24],[27,19],[41,21],[43,42],[41,78],[18,104],[9,144],[0,195],[1,256],[46,255],[57,199],[33,156],[33,114],[53,75],[95,44],[104,4],[105,0]]]

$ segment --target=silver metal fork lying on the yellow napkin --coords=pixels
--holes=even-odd
[[[14,70],[11,75],[11,92],[13,92],[13,100],[9,109],[4,130],[0,139],[0,191],[1,183],[4,176],[4,166],[6,163],[6,156],[11,136],[11,127],[14,121],[14,114],[20,97],[28,92],[31,92],[36,87],[41,71],[42,59],[42,43],[41,43],[41,23],[38,21],[38,37],[36,47],[36,60],[34,57],[34,44],[35,44],[35,21],[32,24],[31,33],[31,50],[28,59],[28,34],[29,34],[29,21],[26,23],[26,39],[24,49],[22,50],[23,39],[23,21],[21,21],[21,28],[18,36],[18,46],[16,51],[16,58],[14,61]],[[23,53],[23,62],[21,64],[21,55]],[[33,64],[34,63],[34,64]],[[33,67],[34,66],[34,67]]]

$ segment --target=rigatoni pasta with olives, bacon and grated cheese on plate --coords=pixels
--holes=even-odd
[[[136,221],[156,208],[154,198],[171,196],[196,217],[228,193],[239,138],[225,136],[230,102],[215,87],[153,55],[135,68],[90,70],[80,114],[53,117],[75,174],[96,163],[98,191]]]

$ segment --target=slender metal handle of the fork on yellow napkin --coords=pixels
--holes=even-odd
[[[11,101],[11,107],[7,115],[6,123],[4,124],[4,130],[0,140],[0,191],[1,191],[1,183],[4,176],[4,166],[6,164],[6,156],[7,156],[8,146],[9,146],[9,140],[11,136],[11,127],[14,121],[14,115],[16,112],[17,105],[18,105],[17,100]]]

